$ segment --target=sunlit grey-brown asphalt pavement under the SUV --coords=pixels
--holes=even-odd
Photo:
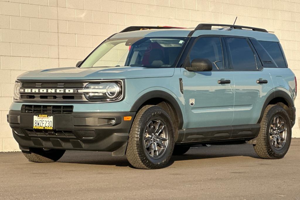
[[[197,146],[158,170],[108,152],[67,151],[55,163],[0,153],[0,199],[300,199],[300,138],[283,159],[259,159],[250,144]]]

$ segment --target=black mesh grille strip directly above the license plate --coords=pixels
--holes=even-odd
[[[73,106],[69,105],[22,105],[22,113],[71,114]]]

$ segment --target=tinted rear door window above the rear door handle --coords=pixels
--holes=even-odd
[[[232,61],[236,71],[257,70],[254,53],[245,38],[226,38]]]

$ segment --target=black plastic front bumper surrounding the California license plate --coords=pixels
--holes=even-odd
[[[7,122],[20,149],[30,147],[65,150],[110,151],[125,153],[135,112],[51,114],[54,130],[33,129],[33,113],[9,111]],[[131,116],[125,121],[125,116]],[[115,124],[111,125],[111,120]]]

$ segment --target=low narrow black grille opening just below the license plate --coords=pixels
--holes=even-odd
[[[76,138],[73,131],[71,130],[35,130],[25,129],[29,136],[40,136],[40,137],[58,137],[58,138]]]

